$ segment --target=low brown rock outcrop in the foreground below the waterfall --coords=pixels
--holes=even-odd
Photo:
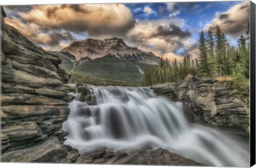
[[[153,150],[147,146],[121,151],[113,151],[101,147],[82,154],[76,163],[203,166],[201,163],[197,163],[191,159],[170,153],[166,149],[159,148]]]

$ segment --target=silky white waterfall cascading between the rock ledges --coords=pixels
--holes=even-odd
[[[226,135],[189,123],[180,102],[158,97],[145,87],[95,87],[70,102],[63,123],[66,144],[80,153],[94,148],[113,150],[150,145],[209,166],[249,166],[249,152]]]

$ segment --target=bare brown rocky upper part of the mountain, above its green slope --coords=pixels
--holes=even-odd
[[[102,58],[107,54],[115,55],[115,57],[120,59],[149,65],[158,65],[161,61],[153,53],[139,50],[137,47],[127,46],[123,39],[117,37],[104,40],[87,38],[84,41],[73,42],[70,46],[61,50],[61,52],[75,55],[79,64],[90,59]]]

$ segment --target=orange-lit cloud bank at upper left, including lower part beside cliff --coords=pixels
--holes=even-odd
[[[5,7],[12,14],[5,18],[7,24],[36,45],[54,51],[61,50],[62,43],[75,41],[72,33],[122,36],[135,25],[131,11],[123,4]]]

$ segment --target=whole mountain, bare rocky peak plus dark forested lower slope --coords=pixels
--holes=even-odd
[[[62,60],[59,67],[66,71],[130,84],[141,84],[143,69],[161,62],[153,53],[127,46],[116,37],[88,38],[51,53]]]

